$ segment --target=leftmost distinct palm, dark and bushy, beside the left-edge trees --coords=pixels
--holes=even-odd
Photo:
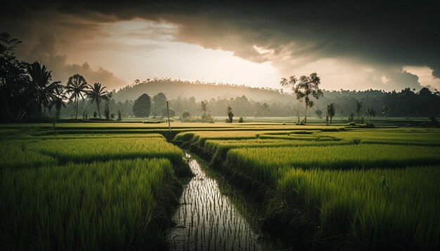
[[[30,92],[32,93],[32,99],[27,105],[36,102],[37,114],[41,114],[41,107],[46,109],[53,100],[56,100],[63,86],[60,81],[51,83],[51,71],[47,70],[46,65],[41,66],[39,62],[28,65],[27,72],[31,77]]]

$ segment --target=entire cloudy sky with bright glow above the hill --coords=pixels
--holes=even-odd
[[[280,88],[318,73],[327,90],[440,89],[429,1],[11,1],[0,32],[65,83],[153,78]]]

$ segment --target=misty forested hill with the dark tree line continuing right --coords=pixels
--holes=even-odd
[[[200,116],[200,102],[207,101],[208,111],[212,116],[226,116],[230,105],[235,116],[302,116],[304,104],[295,96],[282,89],[250,88],[230,84],[200,83],[172,79],[154,79],[136,81],[114,93],[110,108],[121,110],[125,116],[132,116],[132,101],[143,93],[150,97],[164,93],[170,107],[181,116],[188,111],[191,116]],[[383,90],[323,90],[323,97],[314,100],[308,114],[316,116],[316,110],[322,111],[333,103],[336,116],[367,116],[368,109],[376,116],[439,116],[440,93],[428,88],[384,92]],[[360,105],[358,108],[357,105]],[[85,105],[85,104],[84,104]],[[68,110],[68,109],[67,109]],[[318,112],[319,114],[319,112]]]

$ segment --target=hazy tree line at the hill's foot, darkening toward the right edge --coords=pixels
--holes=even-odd
[[[154,97],[153,93],[148,93],[150,97]],[[151,99],[153,100],[153,99]],[[166,97],[164,98],[166,102]],[[190,116],[202,116],[200,111],[200,101],[207,102],[209,114],[212,116],[227,116],[226,108],[231,106],[235,116],[242,117],[304,117],[304,104],[297,102],[295,97],[290,102],[255,102],[247,99],[246,96],[233,98],[217,98],[210,100],[196,100],[195,97],[178,97],[169,100],[169,107],[175,111],[176,116],[182,116],[183,112],[188,112]],[[440,95],[438,92],[432,93],[427,88],[422,88],[419,92],[415,92],[406,88],[401,92],[384,92],[381,90],[323,90],[323,97],[314,100],[314,106],[308,110],[308,116],[324,116],[327,112],[328,104],[335,107],[335,117],[345,118],[349,120],[351,113],[354,114],[354,121],[358,120],[358,116],[366,117],[368,109],[376,111],[376,117],[427,117],[440,116]],[[359,114],[356,113],[356,104],[361,104]],[[111,99],[109,102],[110,111],[121,111],[123,117],[134,116],[132,107],[134,101],[125,100],[124,102],[116,102]],[[166,104],[164,104],[166,107]],[[91,112],[96,110],[95,106],[90,106],[90,101],[85,100],[79,102],[79,110],[84,109]],[[318,113],[316,114],[316,111]],[[101,112],[103,108],[101,107]],[[162,113],[156,109],[156,116],[162,116]],[[75,116],[75,104],[68,103],[61,110],[62,116]],[[150,116],[153,114],[153,102],[150,108]],[[186,114],[188,117],[188,114]],[[359,119],[360,119],[359,118]]]

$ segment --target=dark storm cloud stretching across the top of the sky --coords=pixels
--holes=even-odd
[[[15,6],[3,20],[22,18],[26,22],[41,11],[54,13],[53,22],[61,22],[60,15],[94,23],[164,20],[179,26],[179,41],[230,50],[254,62],[278,57],[299,67],[321,58],[343,58],[389,69],[427,66],[440,77],[436,7],[424,1],[46,0]],[[259,53],[254,46],[270,53]],[[398,73],[414,81],[413,76]]]

